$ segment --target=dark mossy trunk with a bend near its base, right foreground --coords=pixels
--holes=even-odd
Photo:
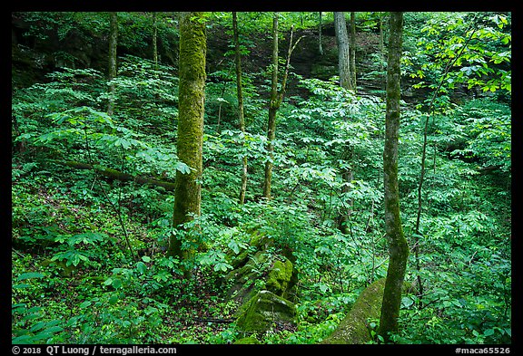
[[[380,315],[380,335],[388,340],[398,331],[401,288],[407,267],[409,246],[403,235],[398,184],[398,138],[400,132],[400,58],[403,13],[390,14],[389,59],[387,63],[387,109],[383,149],[383,186],[385,191],[385,230],[389,243],[389,268]]]

